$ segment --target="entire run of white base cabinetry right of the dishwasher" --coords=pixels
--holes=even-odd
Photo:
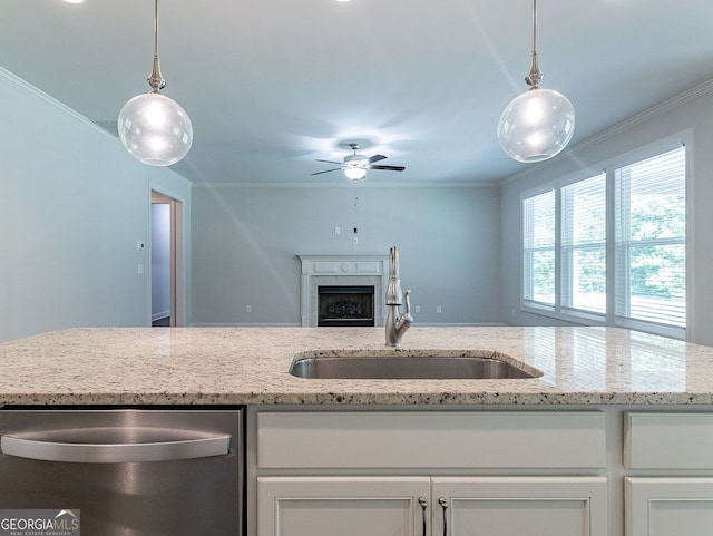
[[[421,536],[421,497],[427,536],[713,534],[713,405],[261,407],[251,423],[248,536]]]

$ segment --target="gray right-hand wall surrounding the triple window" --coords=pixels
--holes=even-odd
[[[603,133],[569,156],[531,167],[501,187],[501,252],[504,320],[520,325],[561,324],[547,316],[520,311],[520,194],[556,178],[568,177],[583,168],[600,168],[615,156],[693,129],[693,187],[690,232],[693,247],[687,261],[692,267],[690,284],[688,340],[713,344],[713,81],[662,104],[624,125]],[[515,311],[515,316],[510,312]]]

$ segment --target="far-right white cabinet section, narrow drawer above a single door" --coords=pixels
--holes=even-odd
[[[625,478],[626,536],[710,536],[713,478],[684,474],[713,468],[713,415],[632,412],[625,422],[625,467],[657,471]]]

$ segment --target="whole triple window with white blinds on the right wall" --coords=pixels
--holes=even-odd
[[[522,306],[683,338],[685,146],[525,196]]]

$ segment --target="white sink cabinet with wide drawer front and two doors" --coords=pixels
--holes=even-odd
[[[607,536],[598,411],[264,411],[256,438],[255,536]]]

